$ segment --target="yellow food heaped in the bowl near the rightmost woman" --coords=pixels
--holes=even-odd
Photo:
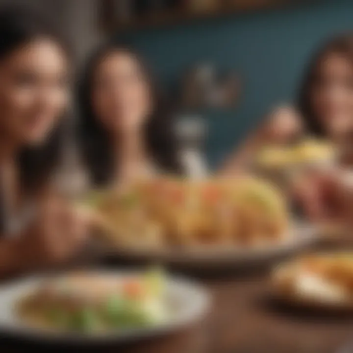
[[[323,161],[335,157],[334,147],[317,139],[306,139],[292,146],[266,146],[256,158],[256,165],[266,169],[281,169]]]

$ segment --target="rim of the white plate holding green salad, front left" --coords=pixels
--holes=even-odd
[[[88,273],[100,273],[104,275],[115,275],[115,276],[129,276],[133,274],[141,274],[141,271],[137,270],[100,270],[100,269],[89,269],[87,270]],[[58,273],[55,274],[65,275],[65,273]],[[39,284],[40,281],[52,276],[52,274],[40,274],[34,275],[30,277],[24,277],[12,280],[8,283],[0,285],[0,296],[3,294],[4,291],[10,291],[11,289],[16,289],[16,286],[33,286]],[[37,283],[36,283],[37,282]],[[106,343],[124,343],[128,341],[138,341],[143,338],[149,337],[156,337],[160,335],[164,335],[170,332],[174,332],[180,328],[187,327],[192,325],[194,322],[202,320],[203,316],[207,314],[210,310],[212,298],[210,293],[206,290],[204,286],[190,280],[188,278],[182,276],[174,276],[168,275],[167,277],[167,285],[171,286],[182,286],[183,290],[189,291],[189,294],[192,292],[194,295],[194,304],[191,310],[191,314],[184,315],[183,318],[179,318],[173,322],[169,320],[168,322],[161,323],[156,326],[152,326],[150,328],[132,328],[132,329],[125,329],[119,333],[116,330],[109,330],[105,333],[100,334],[85,334],[79,332],[68,332],[68,331],[50,331],[40,328],[31,328],[25,323],[21,324],[20,318],[15,318],[15,313],[13,313],[13,317],[15,318],[15,323],[9,325],[9,323],[1,322],[0,321],[0,332],[2,334],[6,334],[9,336],[16,336],[30,339],[34,341],[41,341],[41,342],[60,342],[60,343],[69,343],[75,345],[85,345],[85,344],[106,344]],[[28,288],[27,288],[28,290]],[[25,293],[19,294],[12,300],[11,305],[15,306],[16,301],[23,297]],[[198,301],[195,301],[196,297],[198,297]],[[191,307],[191,305],[189,305]],[[14,308],[12,308],[14,309]]]

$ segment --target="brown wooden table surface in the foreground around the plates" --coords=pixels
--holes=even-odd
[[[213,296],[213,308],[202,322],[174,334],[124,347],[100,350],[87,347],[84,352],[335,353],[353,340],[353,316],[319,316],[271,304],[265,275],[201,281]],[[16,347],[13,341],[5,340],[0,342],[0,347],[1,352],[10,353],[24,352],[30,346],[22,343]],[[54,347],[47,348],[55,351]],[[63,348],[58,351],[63,352]]]

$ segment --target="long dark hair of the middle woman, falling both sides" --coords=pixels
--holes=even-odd
[[[145,143],[153,160],[166,172],[178,172],[176,162],[176,144],[173,136],[173,116],[167,113],[165,101],[162,102],[155,84],[145,63],[139,55],[125,45],[105,44],[90,58],[79,81],[78,109],[78,137],[88,172],[92,182],[102,186],[110,181],[113,170],[113,155],[108,131],[97,119],[92,106],[92,86],[95,71],[102,59],[115,52],[125,52],[134,57],[151,89],[153,112],[145,128]]]

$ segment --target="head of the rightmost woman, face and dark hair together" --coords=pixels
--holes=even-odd
[[[314,56],[303,80],[299,112],[308,130],[338,142],[353,134],[353,35],[334,38]]]

